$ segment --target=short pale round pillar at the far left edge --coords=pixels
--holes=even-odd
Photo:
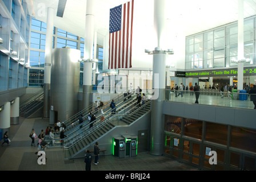
[[[1,110],[0,112],[0,129],[2,130],[2,138],[3,134],[8,131],[9,136],[10,136],[10,127],[11,127],[11,120],[10,120],[10,115],[11,115],[11,103],[6,102],[4,105],[4,109]]]

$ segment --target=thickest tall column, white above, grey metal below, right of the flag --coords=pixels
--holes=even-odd
[[[163,131],[164,115],[163,101],[165,100],[165,80],[166,80],[166,52],[165,48],[165,0],[154,0],[154,28],[157,35],[158,47],[153,55],[153,89],[154,96],[151,100],[151,136],[150,153],[153,155],[163,154]]]

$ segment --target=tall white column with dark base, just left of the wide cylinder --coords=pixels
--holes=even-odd
[[[46,40],[45,40],[45,75],[43,85],[43,117],[50,117],[50,83],[51,83],[51,49],[53,47],[53,27],[54,27],[54,9],[47,10],[47,26],[46,26]]]

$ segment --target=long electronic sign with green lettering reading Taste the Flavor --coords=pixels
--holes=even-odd
[[[237,76],[237,68],[230,69],[213,69],[213,70],[201,70],[201,71],[191,71],[186,72],[186,77],[206,77],[206,76]],[[244,76],[256,75],[256,68],[243,68]]]

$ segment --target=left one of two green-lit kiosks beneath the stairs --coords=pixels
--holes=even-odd
[[[125,158],[125,139],[123,137],[113,139],[113,155],[118,158]]]

